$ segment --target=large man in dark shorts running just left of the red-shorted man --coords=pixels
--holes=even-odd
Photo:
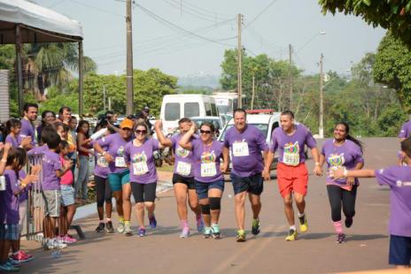
[[[245,110],[235,110],[234,126],[227,131],[224,139],[224,164],[221,170],[228,170],[231,155],[233,167],[230,177],[235,194],[238,242],[246,240],[244,202],[247,193],[252,204],[252,234],[260,233],[260,194],[263,191],[261,171],[264,169],[261,152],[264,157],[267,156],[268,146],[264,135],[257,127],[247,125]]]

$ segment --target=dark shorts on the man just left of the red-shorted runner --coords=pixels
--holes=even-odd
[[[230,176],[233,183],[234,194],[240,194],[244,191],[260,195],[264,189],[264,180],[261,173],[256,173],[250,177],[239,177],[231,172]]]

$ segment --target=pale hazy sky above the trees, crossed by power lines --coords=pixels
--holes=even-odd
[[[35,0],[81,23],[84,54],[102,74],[126,70],[125,0]],[[366,52],[375,52],[385,30],[361,18],[322,15],[318,0],[136,0],[133,65],[175,76],[221,73],[225,49],[237,48],[237,14],[244,16],[247,55],[289,58],[306,74],[348,74]],[[321,34],[322,33],[322,34]],[[324,34],[325,33],[325,34]]]

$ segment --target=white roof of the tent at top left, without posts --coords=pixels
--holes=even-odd
[[[79,42],[79,22],[25,0],[0,0],[0,44],[15,43],[15,26],[21,42]]]

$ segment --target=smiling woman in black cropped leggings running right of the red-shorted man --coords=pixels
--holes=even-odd
[[[332,179],[329,171],[340,168],[361,170],[364,166],[361,141],[350,135],[350,127],[338,123],[334,127],[334,139],[322,145],[320,167],[327,163],[327,193],[329,194],[331,219],[337,232],[337,243],[344,243],[346,238],[341,222],[341,204],[345,215],[345,227],[353,225],[355,215],[355,198],[357,196],[358,179]]]

